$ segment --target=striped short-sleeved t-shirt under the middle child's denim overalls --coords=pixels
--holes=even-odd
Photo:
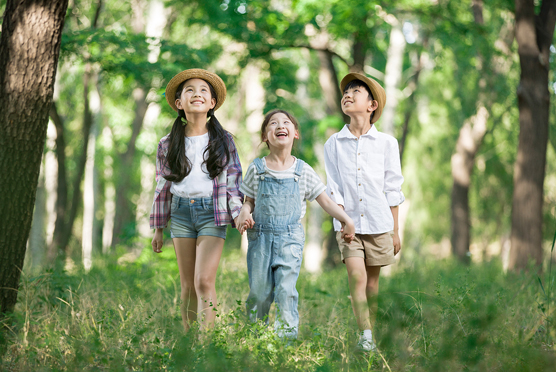
[[[266,167],[266,159],[263,158],[263,164]],[[282,179],[282,178],[293,178],[295,176],[295,167],[297,166],[297,158],[293,162],[293,165],[284,171],[276,171],[269,169],[266,167],[266,174],[270,177]],[[257,167],[255,163],[249,164],[249,168],[247,168],[247,172],[245,172],[245,178],[243,179],[243,183],[239,187],[239,191],[241,191],[245,196],[253,198],[255,203],[257,202],[257,193],[259,191],[259,179],[255,177],[257,174]],[[320,180],[318,174],[311,168],[311,166],[307,163],[303,165],[303,169],[301,171],[301,178],[299,179],[299,200],[301,203],[301,218],[305,216],[305,211],[307,209],[308,201],[313,201],[326,191],[326,186]]]

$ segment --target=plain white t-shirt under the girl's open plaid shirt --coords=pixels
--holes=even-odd
[[[209,177],[206,163],[203,163],[208,140],[208,132],[200,136],[185,137],[185,154],[191,162],[191,172],[180,182],[172,183],[170,192],[173,195],[182,198],[212,196],[212,180]]]

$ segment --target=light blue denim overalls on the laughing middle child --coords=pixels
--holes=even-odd
[[[247,313],[252,321],[264,319],[276,302],[274,328],[279,337],[296,338],[299,325],[295,283],[301,269],[305,233],[299,223],[301,195],[299,179],[303,160],[297,159],[293,178],[266,175],[261,159],[255,159],[259,189],[253,219],[248,230],[247,270],[249,297]]]

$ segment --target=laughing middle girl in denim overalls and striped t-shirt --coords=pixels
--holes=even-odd
[[[303,160],[291,155],[298,124],[286,111],[269,112],[261,126],[261,140],[270,153],[247,169],[240,191],[245,194],[238,229],[246,229],[249,248],[247,313],[252,321],[268,317],[276,302],[275,330],[279,337],[296,338],[299,326],[295,288],[305,233],[300,221],[305,200],[317,200],[331,216],[342,221],[342,237],[353,239],[353,221],[326,195],[326,186]],[[252,216],[251,216],[252,213]]]

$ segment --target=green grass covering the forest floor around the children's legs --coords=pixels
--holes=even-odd
[[[539,278],[503,273],[497,262],[414,263],[382,278],[380,353],[369,355],[355,351],[343,266],[301,273],[300,334],[288,344],[271,327],[245,321],[247,270],[237,250],[222,258],[218,323],[202,337],[183,333],[170,247],[157,256],[145,249],[126,265],[113,261],[99,258],[89,273],[23,276],[16,311],[3,320],[0,370],[553,371],[556,365],[547,310],[554,300]]]

